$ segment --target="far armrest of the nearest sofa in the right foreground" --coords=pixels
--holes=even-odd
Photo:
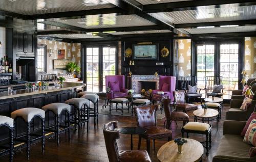
[[[246,124],[246,121],[226,120],[223,123],[223,135],[225,134],[240,135],[245,124]]]

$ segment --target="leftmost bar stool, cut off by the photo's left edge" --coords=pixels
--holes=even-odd
[[[9,129],[9,147],[5,146],[0,146],[0,148],[4,149],[3,151],[0,151],[0,154],[6,153],[9,151],[9,161],[13,161],[13,155],[14,155],[14,141],[13,141],[13,136],[14,136],[14,124],[13,124],[13,119],[6,117],[6,116],[1,116],[0,115],[0,127],[5,126]]]

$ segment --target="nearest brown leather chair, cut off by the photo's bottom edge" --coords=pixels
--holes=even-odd
[[[151,158],[145,150],[118,151],[116,139],[120,138],[117,128],[117,121],[103,125],[103,134],[110,162],[151,162]]]

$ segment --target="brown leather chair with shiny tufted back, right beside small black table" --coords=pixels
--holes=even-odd
[[[150,141],[153,140],[153,149],[155,150],[155,139],[168,138],[172,140],[172,130],[157,126],[156,111],[158,105],[147,105],[134,107],[134,114],[137,120],[137,126],[146,129],[145,133],[139,134],[138,150],[140,149],[141,138],[146,139],[146,150],[150,153]]]

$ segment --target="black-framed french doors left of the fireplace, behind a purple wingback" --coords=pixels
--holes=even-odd
[[[116,56],[116,46],[90,45],[86,47],[87,91],[105,91],[105,76],[117,73]]]

